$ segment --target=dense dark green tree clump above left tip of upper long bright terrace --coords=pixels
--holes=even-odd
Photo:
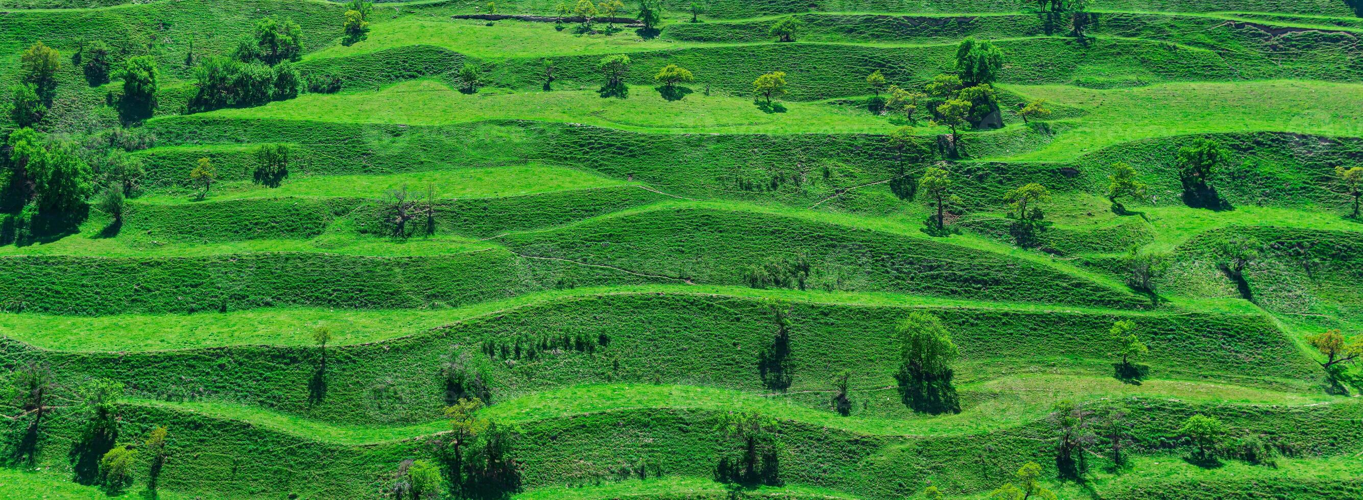
[[[303,87],[328,86],[326,78],[316,84],[290,63],[303,57],[303,29],[292,20],[266,18],[256,23],[252,37],[244,38],[230,56],[199,60],[194,68],[198,94],[189,106],[210,110],[226,106],[255,106],[289,99]]]

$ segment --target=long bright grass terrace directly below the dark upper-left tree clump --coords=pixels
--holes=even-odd
[[[379,93],[312,94],[260,108],[224,109],[206,116],[233,119],[324,120],[440,125],[480,120],[585,123],[654,132],[889,132],[894,125],[864,110],[818,102],[785,102],[766,113],[750,98],[705,95],[701,86],[677,101],[646,86],[628,98],[602,98],[594,90],[463,94],[433,80],[405,82]]]

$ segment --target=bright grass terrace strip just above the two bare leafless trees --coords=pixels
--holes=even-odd
[[[626,184],[596,173],[530,162],[480,169],[429,170],[384,176],[289,177],[278,188],[255,183],[234,183],[214,188],[209,200],[282,196],[379,198],[390,189],[408,187],[425,195],[435,187],[438,199],[522,196],[551,191],[604,188]],[[149,196],[138,202],[192,203],[187,196]]]

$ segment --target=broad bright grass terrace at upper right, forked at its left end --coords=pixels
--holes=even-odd
[[[1138,89],[1006,86],[1088,110],[1077,128],[1037,150],[999,159],[1074,159],[1127,140],[1214,132],[1363,135],[1363,86],[1304,80],[1167,83]]]

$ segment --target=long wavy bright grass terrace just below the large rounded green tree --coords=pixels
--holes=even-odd
[[[1268,390],[1201,381],[1145,380],[1131,386],[1112,377],[1014,376],[985,383],[961,384],[958,390],[980,391],[990,398],[958,414],[915,416],[912,418],[842,417],[815,410],[781,396],[765,396],[696,386],[597,384],[574,386],[503,401],[481,411],[503,424],[557,420],[574,414],[642,410],[692,409],[709,411],[761,411],[782,420],[876,436],[980,435],[1025,425],[1050,413],[1059,399],[1163,398],[1198,403],[1234,405],[1318,405],[1341,401],[1325,395],[1298,395]],[[853,398],[898,401],[894,388],[856,388]],[[403,425],[341,425],[282,414],[252,406],[218,402],[135,401],[136,405],[198,411],[218,418],[239,420],[311,440],[339,444],[373,444],[425,436],[448,429],[443,420]],[[1344,402],[1347,403],[1347,402]]]

